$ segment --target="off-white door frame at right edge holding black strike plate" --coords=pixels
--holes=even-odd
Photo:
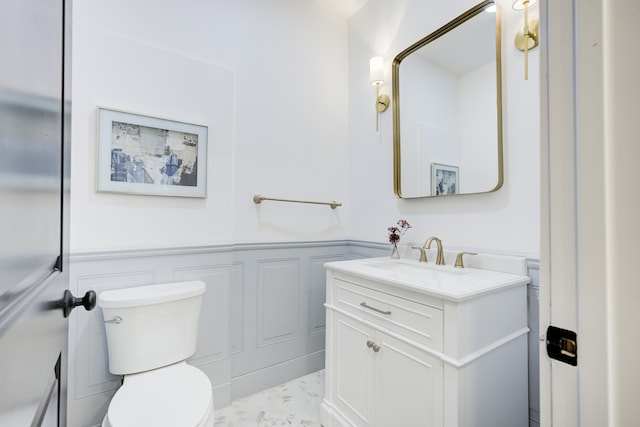
[[[640,2],[540,7],[541,421],[638,425]],[[549,325],[576,332],[576,366],[547,357]]]

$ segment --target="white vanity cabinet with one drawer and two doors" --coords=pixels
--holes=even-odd
[[[323,425],[527,426],[528,278],[456,297],[365,263],[326,264]]]

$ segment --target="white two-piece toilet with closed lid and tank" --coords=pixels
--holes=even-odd
[[[103,427],[210,427],[211,382],[186,359],[196,351],[201,281],[105,291],[109,371],[124,375]]]

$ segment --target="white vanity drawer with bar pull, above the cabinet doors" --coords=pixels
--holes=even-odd
[[[339,279],[334,283],[337,307],[442,351],[441,309]]]

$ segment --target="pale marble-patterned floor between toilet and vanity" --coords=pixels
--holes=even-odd
[[[215,427],[320,427],[324,369],[216,409]]]

